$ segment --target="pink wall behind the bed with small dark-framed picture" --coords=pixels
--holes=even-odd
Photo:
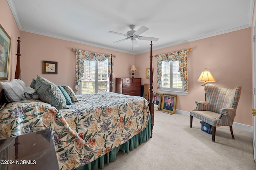
[[[72,48],[116,55],[114,78],[130,77],[130,68],[132,64],[135,64],[134,55],[25,31],[20,31],[20,40],[22,80],[27,85],[30,85],[32,78],[36,78],[38,75],[57,85],[68,85],[74,89],[76,53],[72,51]],[[42,61],[57,61],[58,74],[42,74]]]

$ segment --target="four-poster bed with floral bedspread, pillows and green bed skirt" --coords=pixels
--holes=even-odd
[[[16,137],[18,140],[19,135],[51,128],[61,170],[104,168],[104,163],[108,164],[115,160],[118,150],[128,153],[129,150],[152,137],[154,123],[152,43],[150,50],[150,103],[148,103],[139,96],[113,93],[112,69],[111,92],[76,95],[70,87],[56,88],[54,83],[41,76],[34,79],[30,87],[27,87],[20,80],[21,55],[20,39],[18,39],[15,79],[10,82],[19,84],[24,90],[32,90],[33,87],[35,89],[33,88],[32,92],[27,90],[22,100],[13,101],[11,94],[4,91],[6,83],[10,82],[1,83],[3,89],[0,92],[0,139]],[[61,93],[58,94],[59,90],[63,96],[66,94],[61,89],[66,91],[72,104],[65,105],[60,101],[62,96]],[[42,96],[47,92],[52,94]],[[64,100],[66,100],[65,96]]]

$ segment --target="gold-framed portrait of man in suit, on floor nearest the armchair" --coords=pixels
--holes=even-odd
[[[166,111],[167,113],[175,114],[176,111],[176,95],[172,94],[163,94],[161,110]]]

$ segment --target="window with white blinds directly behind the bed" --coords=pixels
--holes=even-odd
[[[108,60],[84,61],[80,94],[109,92]]]

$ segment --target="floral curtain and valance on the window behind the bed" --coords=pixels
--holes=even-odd
[[[79,49],[72,49],[76,51],[76,77],[75,77],[75,90],[78,91],[80,82],[82,81],[82,76],[84,74],[84,61],[105,61],[108,60],[108,77],[110,78],[110,70],[112,68],[112,77],[114,75],[114,58],[115,55],[106,55],[96,52],[84,51]],[[112,65],[111,65],[112,58]],[[113,83],[113,80],[110,80]]]

